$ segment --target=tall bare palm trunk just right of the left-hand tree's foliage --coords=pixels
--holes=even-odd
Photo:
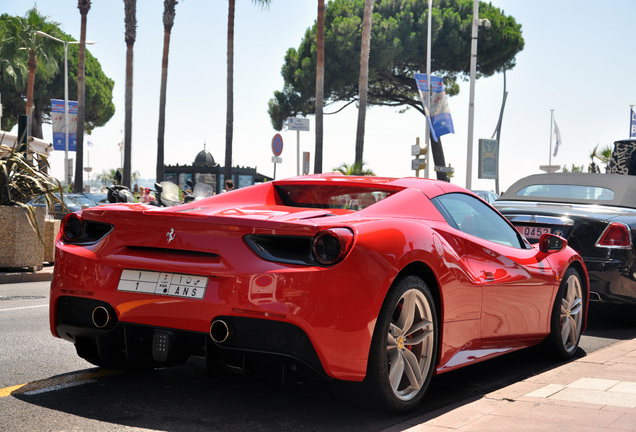
[[[137,39],[137,0],[124,0],[126,23],[126,97],[124,120],[124,177],[122,183],[130,187],[131,142],[132,142],[132,92],[133,92],[133,46]]]

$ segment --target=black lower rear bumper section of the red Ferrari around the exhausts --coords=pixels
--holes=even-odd
[[[73,342],[80,357],[104,366],[159,367],[184,364],[190,357],[223,360],[242,355],[275,355],[326,376],[320,359],[299,327],[249,317],[218,317],[227,333],[185,331],[119,321],[106,302],[62,296],[56,331]],[[222,338],[220,336],[223,336]],[[216,341],[214,339],[217,339]]]

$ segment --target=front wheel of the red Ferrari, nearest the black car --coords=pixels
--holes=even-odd
[[[568,360],[576,353],[581,340],[585,304],[581,276],[570,267],[561,280],[552,307],[550,335],[546,342],[553,357]]]

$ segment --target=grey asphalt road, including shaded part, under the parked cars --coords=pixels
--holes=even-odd
[[[383,431],[559,364],[531,348],[434,378],[418,409],[364,409],[323,381],[209,376],[203,361],[94,368],[48,327],[48,282],[0,285],[0,431]],[[578,356],[636,337],[636,309],[593,305]],[[26,384],[26,385],[24,385]]]

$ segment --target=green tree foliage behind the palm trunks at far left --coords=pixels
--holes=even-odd
[[[17,116],[25,113],[28,47],[33,43],[39,47],[33,96],[34,123],[50,123],[51,99],[64,99],[64,45],[43,36],[26,38],[24,31],[30,30],[20,27],[23,20],[24,18],[7,14],[0,15],[0,93],[3,105],[3,130],[11,130],[17,123]],[[49,24],[38,29],[62,40],[73,40],[70,35],[59,29],[57,23]],[[77,100],[78,55],[79,46],[69,44],[69,100]],[[90,133],[94,128],[105,125],[115,114],[115,105],[112,101],[115,84],[104,74],[101,65],[88,50],[85,67],[85,129]]]

